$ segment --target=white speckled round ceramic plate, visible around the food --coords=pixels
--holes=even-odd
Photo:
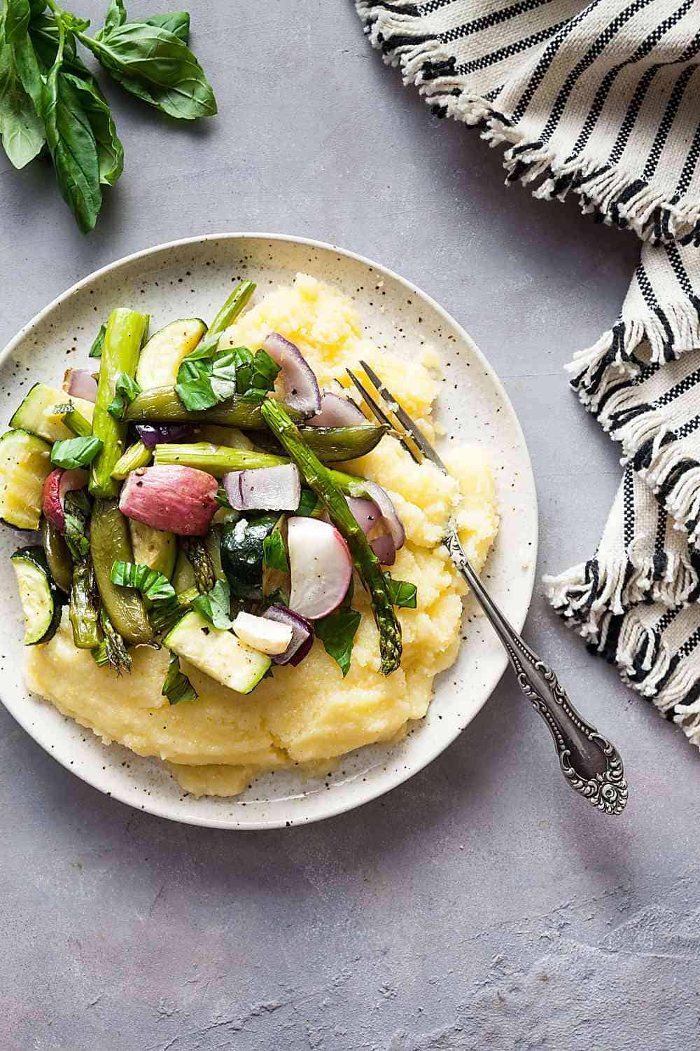
[[[490,453],[499,485],[502,526],[487,569],[488,584],[519,628],[532,596],[537,553],[537,506],[530,457],[508,396],[482,353],[458,323],[410,282],[331,245],[258,233],[226,233],[161,245],[98,270],[38,314],[0,356],[4,404],[15,407],[37,380],[57,382],[70,365],[85,365],[100,323],[119,305],[150,312],[154,331],[172,317],[211,317],[232,282],[254,279],[261,291],[291,283],[303,270],[339,285],[357,303],[379,346],[409,356],[422,342],[440,349],[450,382],[438,418],[454,440]],[[488,700],[506,655],[483,617],[466,632],[457,663],[437,682],[427,717],[398,745],[373,745],[345,757],[341,769],[301,781],[278,771],[258,778],[233,799],[194,799],[156,760],[89,730],[27,693],[23,683],[21,610],[8,556],[17,534],[0,530],[0,564],[7,604],[0,621],[0,692],[7,709],[43,748],[89,784],[151,813],[219,828],[274,828],[318,821],[394,788],[451,742]]]

